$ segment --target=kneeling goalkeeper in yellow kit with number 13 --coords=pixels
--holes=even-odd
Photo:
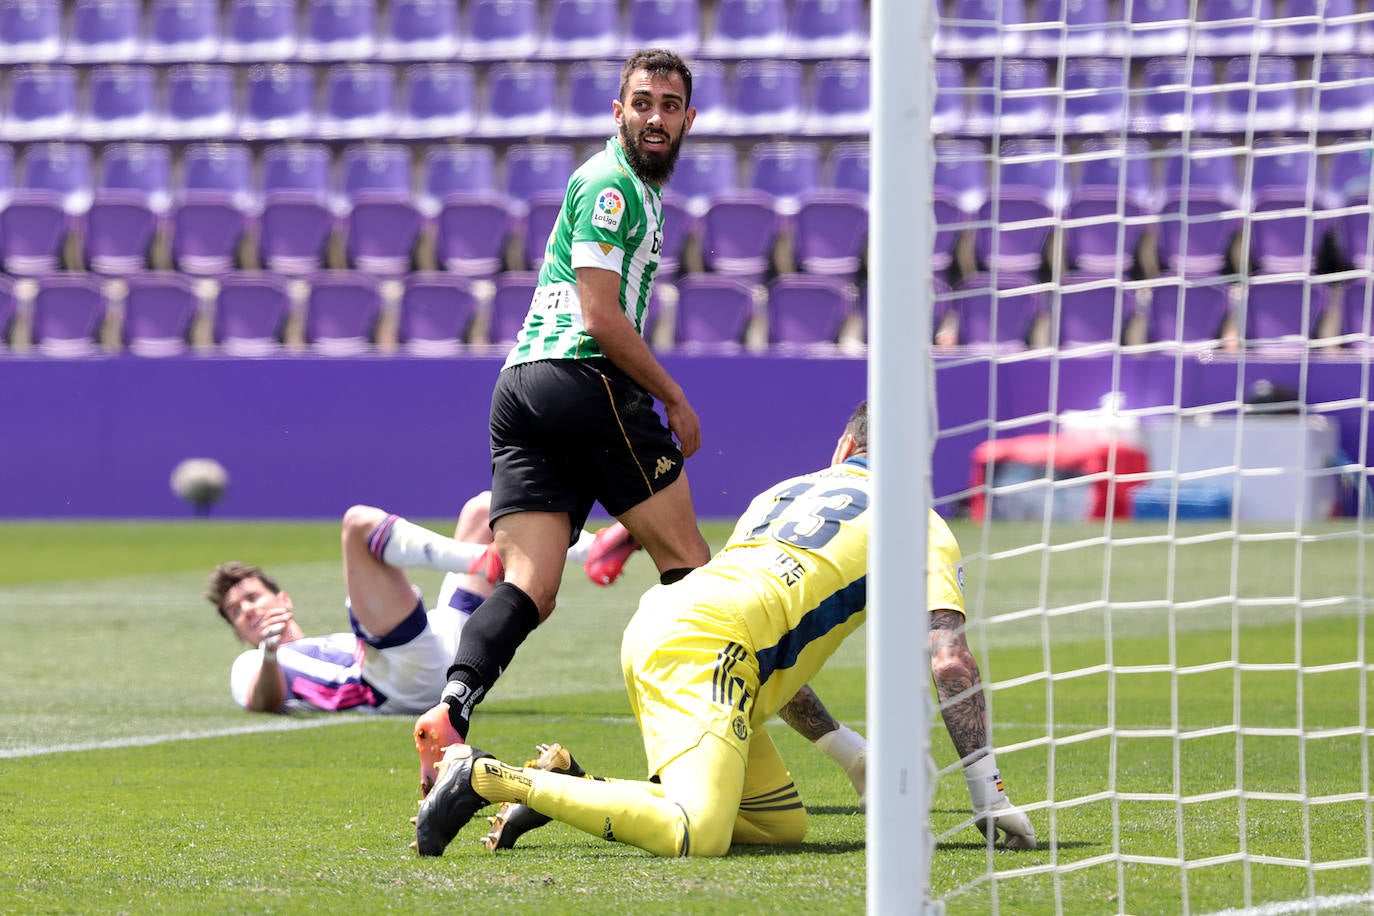
[[[510,766],[453,744],[420,805],[415,845],[440,856],[489,803],[523,805],[658,856],[723,856],[732,843],[798,843],[801,795],[765,722],[867,617],[867,407],[826,470],[756,497],[725,548],[671,586],[644,593],[621,665],[651,781],[583,779],[565,748]],[[974,823],[1010,849],[1035,849],[1030,820],[1006,797],[988,739],[977,665],[963,637],[963,564],[930,514],[926,571],[933,670],[965,759]],[[951,678],[952,669],[960,669]],[[949,684],[959,687],[948,694]],[[503,814],[485,845],[502,845]]]

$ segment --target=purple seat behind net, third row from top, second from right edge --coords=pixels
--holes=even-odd
[[[1316,268],[1326,231],[1316,154],[1305,143],[1257,140],[1250,165],[1250,257],[1265,273]],[[1311,188],[1311,191],[1309,191]]]

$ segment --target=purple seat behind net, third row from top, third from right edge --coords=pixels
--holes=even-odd
[[[1217,273],[1241,228],[1237,155],[1224,141],[1193,139],[1171,147],[1164,169],[1160,217],[1161,266],[1186,276]]]

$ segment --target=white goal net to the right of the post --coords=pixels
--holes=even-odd
[[[930,898],[1370,912],[1374,10],[938,14],[932,490],[1039,849],[936,717]]]

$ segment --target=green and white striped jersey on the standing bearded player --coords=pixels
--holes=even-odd
[[[539,286],[506,365],[605,356],[583,323],[577,268],[620,275],[620,308],[644,332],[644,310],[664,247],[662,192],[639,180],[617,137],[567,180],[544,247]]]

